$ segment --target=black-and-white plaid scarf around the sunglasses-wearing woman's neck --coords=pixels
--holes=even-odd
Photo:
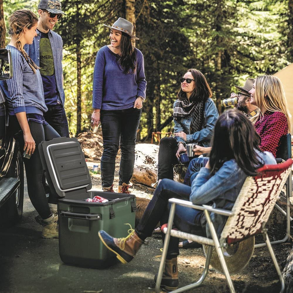
[[[190,103],[187,97],[182,100],[176,100],[174,104],[173,117],[175,120],[191,115],[190,133],[194,133],[202,129],[204,122],[204,109],[207,99],[194,101]]]

